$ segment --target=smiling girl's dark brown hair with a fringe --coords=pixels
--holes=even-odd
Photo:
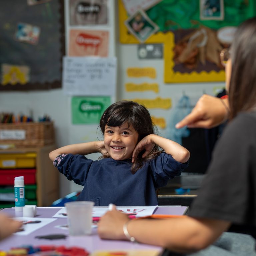
[[[104,135],[106,125],[120,127],[125,122],[129,126],[132,125],[134,130],[139,134],[138,142],[149,134],[157,134],[157,129],[151,120],[148,110],[137,102],[126,100],[118,101],[109,106],[103,113],[99,126]],[[159,155],[160,149],[155,145],[151,153],[145,158],[142,158],[143,153],[144,150],[138,154],[132,165],[133,174],[142,167],[144,161]]]

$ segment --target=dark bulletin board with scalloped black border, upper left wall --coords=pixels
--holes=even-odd
[[[63,1],[1,0],[0,17],[0,90],[61,87]]]

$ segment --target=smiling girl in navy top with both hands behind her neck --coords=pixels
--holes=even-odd
[[[95,206],[157,205],[155,190],[188,166],[189,151],[156,135],[148,110],[136,102],[112,104],[99,126],[104,141],[68,145],[49,154],[68,180],[84,186],[77,200]],[[96,152],[102,154],[97,161],[85,157]]]

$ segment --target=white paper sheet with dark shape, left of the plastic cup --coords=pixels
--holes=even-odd
[[[43,226],[55,221],[56,219],[53,218],[29,218],[29,217],[17,217],[17,218],[13,218],[15,220],[19,220],[19,221],[36,221],[36,220],[40,220],[40,223],[31,223],[31,224],[25,224],[22,226],[22,228],[24,228],[24,231],[19,231],[14,233],[15,235],[20,235],[20,236],[26,236],[34,231],[36,231],[37,229],[42,228]]]

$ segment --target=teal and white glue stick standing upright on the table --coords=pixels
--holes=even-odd
[[[25,206],[24,176],[14,178],[15,211],[21,212]]]

